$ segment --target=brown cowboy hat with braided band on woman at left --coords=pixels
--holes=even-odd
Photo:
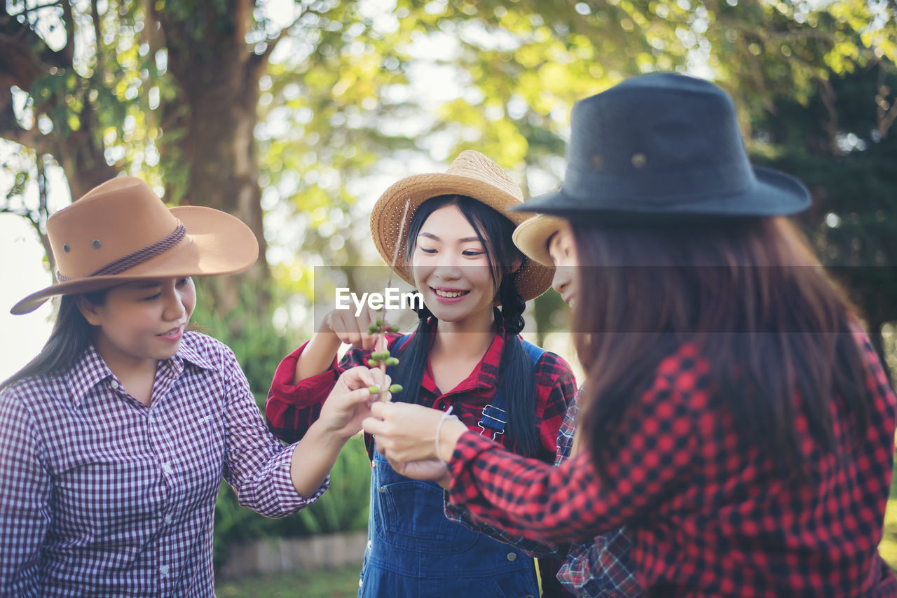
[[[231,274],[258,257],[255,235],[228,213],[168,208],[143,180],[113,178],[54,213],[47,234],[57,283],[10,310],[27,314],[54,295],[109,289],[123,282]]]

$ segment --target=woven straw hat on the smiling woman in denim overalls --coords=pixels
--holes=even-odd
[[[414,212],[425,201],[439,195],[467,195],[500,212],[515,225],[527,220],[529,215],[509,212],[509,208],[523,204],[523,192],[499,168],[498,164],[483,156],[480,152],[466,150],[445,172],[414,175],[403,178],[390,186],[380,195],[377,204],[370,213],[370,234],[374,245],[387,264],[392,264],[396,256],[396,242],[399,249],[396,257],[395,271],[403,281],[414,286],[414,277],[405,264],[405,244],[408,240],[408,228],[414,219]],[[405,205],[405,225],[402,215]],[[398,238],[402,230],[402,238]],[[552,284],[553,268],[537,264],[525,257],[517,272],[514,282],[525,301],[535,299]]]

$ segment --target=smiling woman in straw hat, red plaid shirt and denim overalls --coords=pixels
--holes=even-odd
[[[380,255],[421,292],[419,324],[414,334],[369,334],[372,316],[331,312],[277,369],[266,405],[275,433],[299,438],[339,372],[367,363],[379,341],[378,352],[386,345],[399,360],[392,377],[405,390],[394,400],[454,412],[501,446],[552,463],[575,382],[560,357],[518,336],[525,300],[552,277],[511,241],[526,216],[509,207],[522,200],[503,170],[472,151],[445,173],[390,186],[371,213],[371,234]],[[341,342],[355,347],[337,366]],[[448,521],[436,484],[397,474],[366,440],[374,467],[360,596],[537,594],[533,559]],[[546,571],[546,581],[553,577]]]

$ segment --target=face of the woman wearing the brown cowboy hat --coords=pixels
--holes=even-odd
[[[127,282],[109,289],[102,305],[78,302],[96,327],[97,351],[113,370],[115,364],[141,367],[172,357],[195,307],[190,278]]]

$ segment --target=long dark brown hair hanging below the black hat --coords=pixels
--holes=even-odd
[[[627,405],[684,342],[709,362],[723,408],[783,467],[803,464],[797,411],[823,447],[833,444],[833,400],[865,431],[856,316],[788,221],[571,226],[578,295],[588,297],[573,314],[588,374],[580,425],[602,475]]]

